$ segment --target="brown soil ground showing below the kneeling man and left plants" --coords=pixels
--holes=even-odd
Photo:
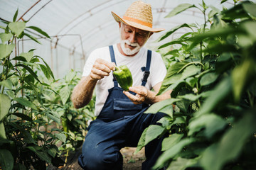
[[[121,149],[121,153],[124,159],[123,170],[139,170],[142,169],[142,162],[144,162],[144,148],[137,154],[134,154],[136,147],[124,147]],[[81,151],[78,149],[76,152],[69,154],[67,164],[60,167],[48,167],[48,170],[82,170],[78,165],[78,156]]]

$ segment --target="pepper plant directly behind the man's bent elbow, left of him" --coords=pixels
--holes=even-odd
[[[63,145],[59,147],[63,151],[75,150],[80,147],[85,138],[87,125],[95,119],[95,95],[92,96],[92,100],[87,106],[80,109],[75,109],[70,100],[71,92],[78,84],[80,77],[79,72],[71,70],[63,79],[59,79],[51,85],[55,92],[48,90],[43,94],[47,98],[46,103],[60,115],[63,133],[67,137]]]

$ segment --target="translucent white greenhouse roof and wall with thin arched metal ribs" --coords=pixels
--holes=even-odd
[[[24,38],[18,42],[19,52],[26,52],[36,48],[37,55],[49,62],[54,73],[63,76],[68,69],[82,71],[86,58],[97,47],[111,45],[119,41],[119,28],[111,15],[111,11],[123,16],[126,9],[132,4],[131,0],[0,0],[0,18],[4,21],[12,21],[14,13],[18,9],[17,19],[28,21],[26,26],[36,26],[50,35],[50,40],[40,39],[42,45]],[[183,3],[195,4],[198,0],[146,0],[151,4],[154,28],[165,28],[162,33],[154,33],[147,45],[156,47],[155,40],[183,23],[198,23],[204,21],[203,14],[198,8],[189,8],[177,16],[165,18],[176,6]],[[206,5],[215,8],[230,8],[233,0],[220,1],[205,0]],[[212,7],[213,8],[213,7]],[[4,23],[0,23],[3,26]],[[1,30],[3,31],[3,30]],[[176,35],[188,32],[188,28],[178,30]],[[170,40],[170,39],[169,39]],[[56,70],[57,68],[57,70]]]

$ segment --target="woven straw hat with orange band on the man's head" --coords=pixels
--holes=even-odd
[[[114,12],[111,13],[115,21],[125,23],[141,30],[147,30],[153,33],[164,30],[163,28],[153,28],[151,5],[140,0],[134,1],[134,3],[132,3],[132,5],[129,6],[127,11],[124,13],[122,18],[117,16],[117,14]]]

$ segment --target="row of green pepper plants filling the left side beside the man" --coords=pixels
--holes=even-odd
[[[75,109],[70,94],[80,79],[71,71],[55,79],[36,49],[16,54],[23,37],[50,38],[27,21],[3,21],[0,44],[0,169],[47,169],[65,164],[68,151],[82,145],[86,122],[94,118],[94,101]],[[64,157],[65,156],[65,157]]]

